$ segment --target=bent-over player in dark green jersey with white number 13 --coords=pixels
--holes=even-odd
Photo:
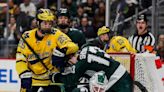
[[[104,92],[132,92],[133,83],[130,74],[119,62],[111,59],[105,51],[96,46],[84,47],[79,55],[73,55],[68,62],[75,64],[72,67],[72,73],[68,75],[53,73],[50,75],[53,82],[64,83],[66,92],[72,92],[80,77],[85,73],[91,77],[95,72],[100,71],[104,72],[107,77],[106,80],[103,76],[99,77],[99,81],[104,86]]]

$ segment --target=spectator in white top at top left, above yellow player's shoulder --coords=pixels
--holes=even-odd
[[[24,0],[19,7],[21,11],[25,12],[28,16],[35,17],[36,6],[31,2],[31,0]]]

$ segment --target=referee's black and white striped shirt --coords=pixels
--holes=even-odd
[[[154,46],[155,37],[151,32],[144,35],[134,34],[128,38],[129,42],[137,50],[138,53],[145,52],[144,46]]]

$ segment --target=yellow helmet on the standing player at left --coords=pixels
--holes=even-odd
[[[39,9],[36,15],[37,20],[53,21],[55,16],[49,9]]]

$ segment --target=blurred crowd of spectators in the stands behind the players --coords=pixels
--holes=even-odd
[[[15,46],[14,50],[13,48],[11,50],[13,55],[10,54],[9,57],[13,58],[15,56],[14,51],[21,34],[37,27],[35,15],[38,9],[45,8],[45,1],[47,1],[47,8],[56,15],[58,0],[8,0],[8,4],[6,3],[7,0],[0,1],[0,53],[5,50],[5,46],[2,46],[2,44],[5,45],[6,40],[8,40],[9,45],[14,44]],[[61,7],[70,11],[70,27],[81,30],[86,39],[92,39],[97,37],[98,28],[105,25],[105,1],[61,0]],[[151,2],[151,0],[111,0],[111,20],[114,22],[118,12],[121,14],[119,20],[124,20],[135,14],[135,7],[143,10],[148,8]],[[6,24],[7,5],[9,7],[8,24]],[[127,28],[127,24],[118,28],[118,35],[123,35],[122,30]],[[162,42],[160,41],[159,44],[162,44]]]

